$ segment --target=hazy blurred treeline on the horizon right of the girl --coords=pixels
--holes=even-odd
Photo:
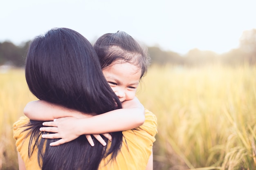
[[[222,64],[238,66],[245,63],[253,65],[256,64],[256,29],[244,31],[240,38],[240,47],[223,54],[191,49],[182,56],[172,51],[162,51],[159,47],[148,47],[148,52],[152,58],[152,63],[159,65],[205,66]]]

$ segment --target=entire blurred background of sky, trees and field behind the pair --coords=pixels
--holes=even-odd
[[[31,39],[54,27],[92,44],[125,31],[152,59],[137,96],[157,115],[155,170],[256,170],[254,0],[0,2],[0,169],[18,169],[12,124],[35,100]]]

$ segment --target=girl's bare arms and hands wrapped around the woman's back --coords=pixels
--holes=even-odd
[[[50,117],[48,119],[51,119],[53,117],[61,117],[62,115],[72,116],[72,113],[76,112],[75,110],[67,109],[62,106],[56,106],[54,104],[49,104],[44,101],[43,103],[40,102],[41,101],[34,102],[34,104],[30,103],[30,108],[25,109],[25,111],[29,110],[30,114],[25,113],[25,115],[29,117],[30,115],[33,115],[37,112],[42,112],[42,109],[36,109],[36,105],[39,105],[39,107],[43,108],[43,110],[45,111],[45,113],[39,113],[39,115]],[[46,106],[43,106],[42,104]],[[54,132],[54,134],[45,134],[42,137],[49,139],[61,138],[60,140],[51,144],[51,146],[57,146],[76,139],[83,134],[103,134],[107,132],[130,130],[133,128],[137,128],[144,123],[144,106],[139,102],[137,98],[123,102],[122,105],[124,107],[122,109],[112,110],[108,113],[92,117],[80,119],[76,117],[63,117],[59,119],[54,119],[55,121],[44,122],[44,126],[51,127],[43,127],[40,128],[40,130],[46,132]],[[49,108],[45,109],[44,107]],[[65,113],[63,114],[63,112]],[[81,115],[84,114],[80,113],[80,116]],[[37,116],[34,116],[34,119],[36,117]],[[29,118],[33,119],[31,117]],[[89,140],[90,139],[88,139],[88,141]]]

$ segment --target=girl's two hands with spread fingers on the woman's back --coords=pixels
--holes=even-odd
[[[79,119],[75,117],[63,117],[54,119],[54,121],[43,122],[43,126],[50,127],[42,127],[40,131],[45,132],[53,132],[52,134],[44,134],[43,138],[47,139],[57,139],[61,138],[58,141],[52,142],[50,146],[58,146],[64,144],[66,142],[72,141],[78,138],[81,134],[79,129]],[[83,123],[83,122],[81,122]],[[111,141],[111,135],[106,133],[102,134],[107,137]],[[106,146],[106,142],[102,139],[100,135],[94,135],[94,137],[103,145]],[[86,135],[91,146],[94,146],[94,142],[92,141],[91,135]]]

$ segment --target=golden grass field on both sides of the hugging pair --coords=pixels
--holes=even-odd
[[[138,98],[157,115],[155,170],[256,170],[256,67],[151,66]],[[17,169],[12,124],[29,93],[23,70],[0,73],[0,169]]]

